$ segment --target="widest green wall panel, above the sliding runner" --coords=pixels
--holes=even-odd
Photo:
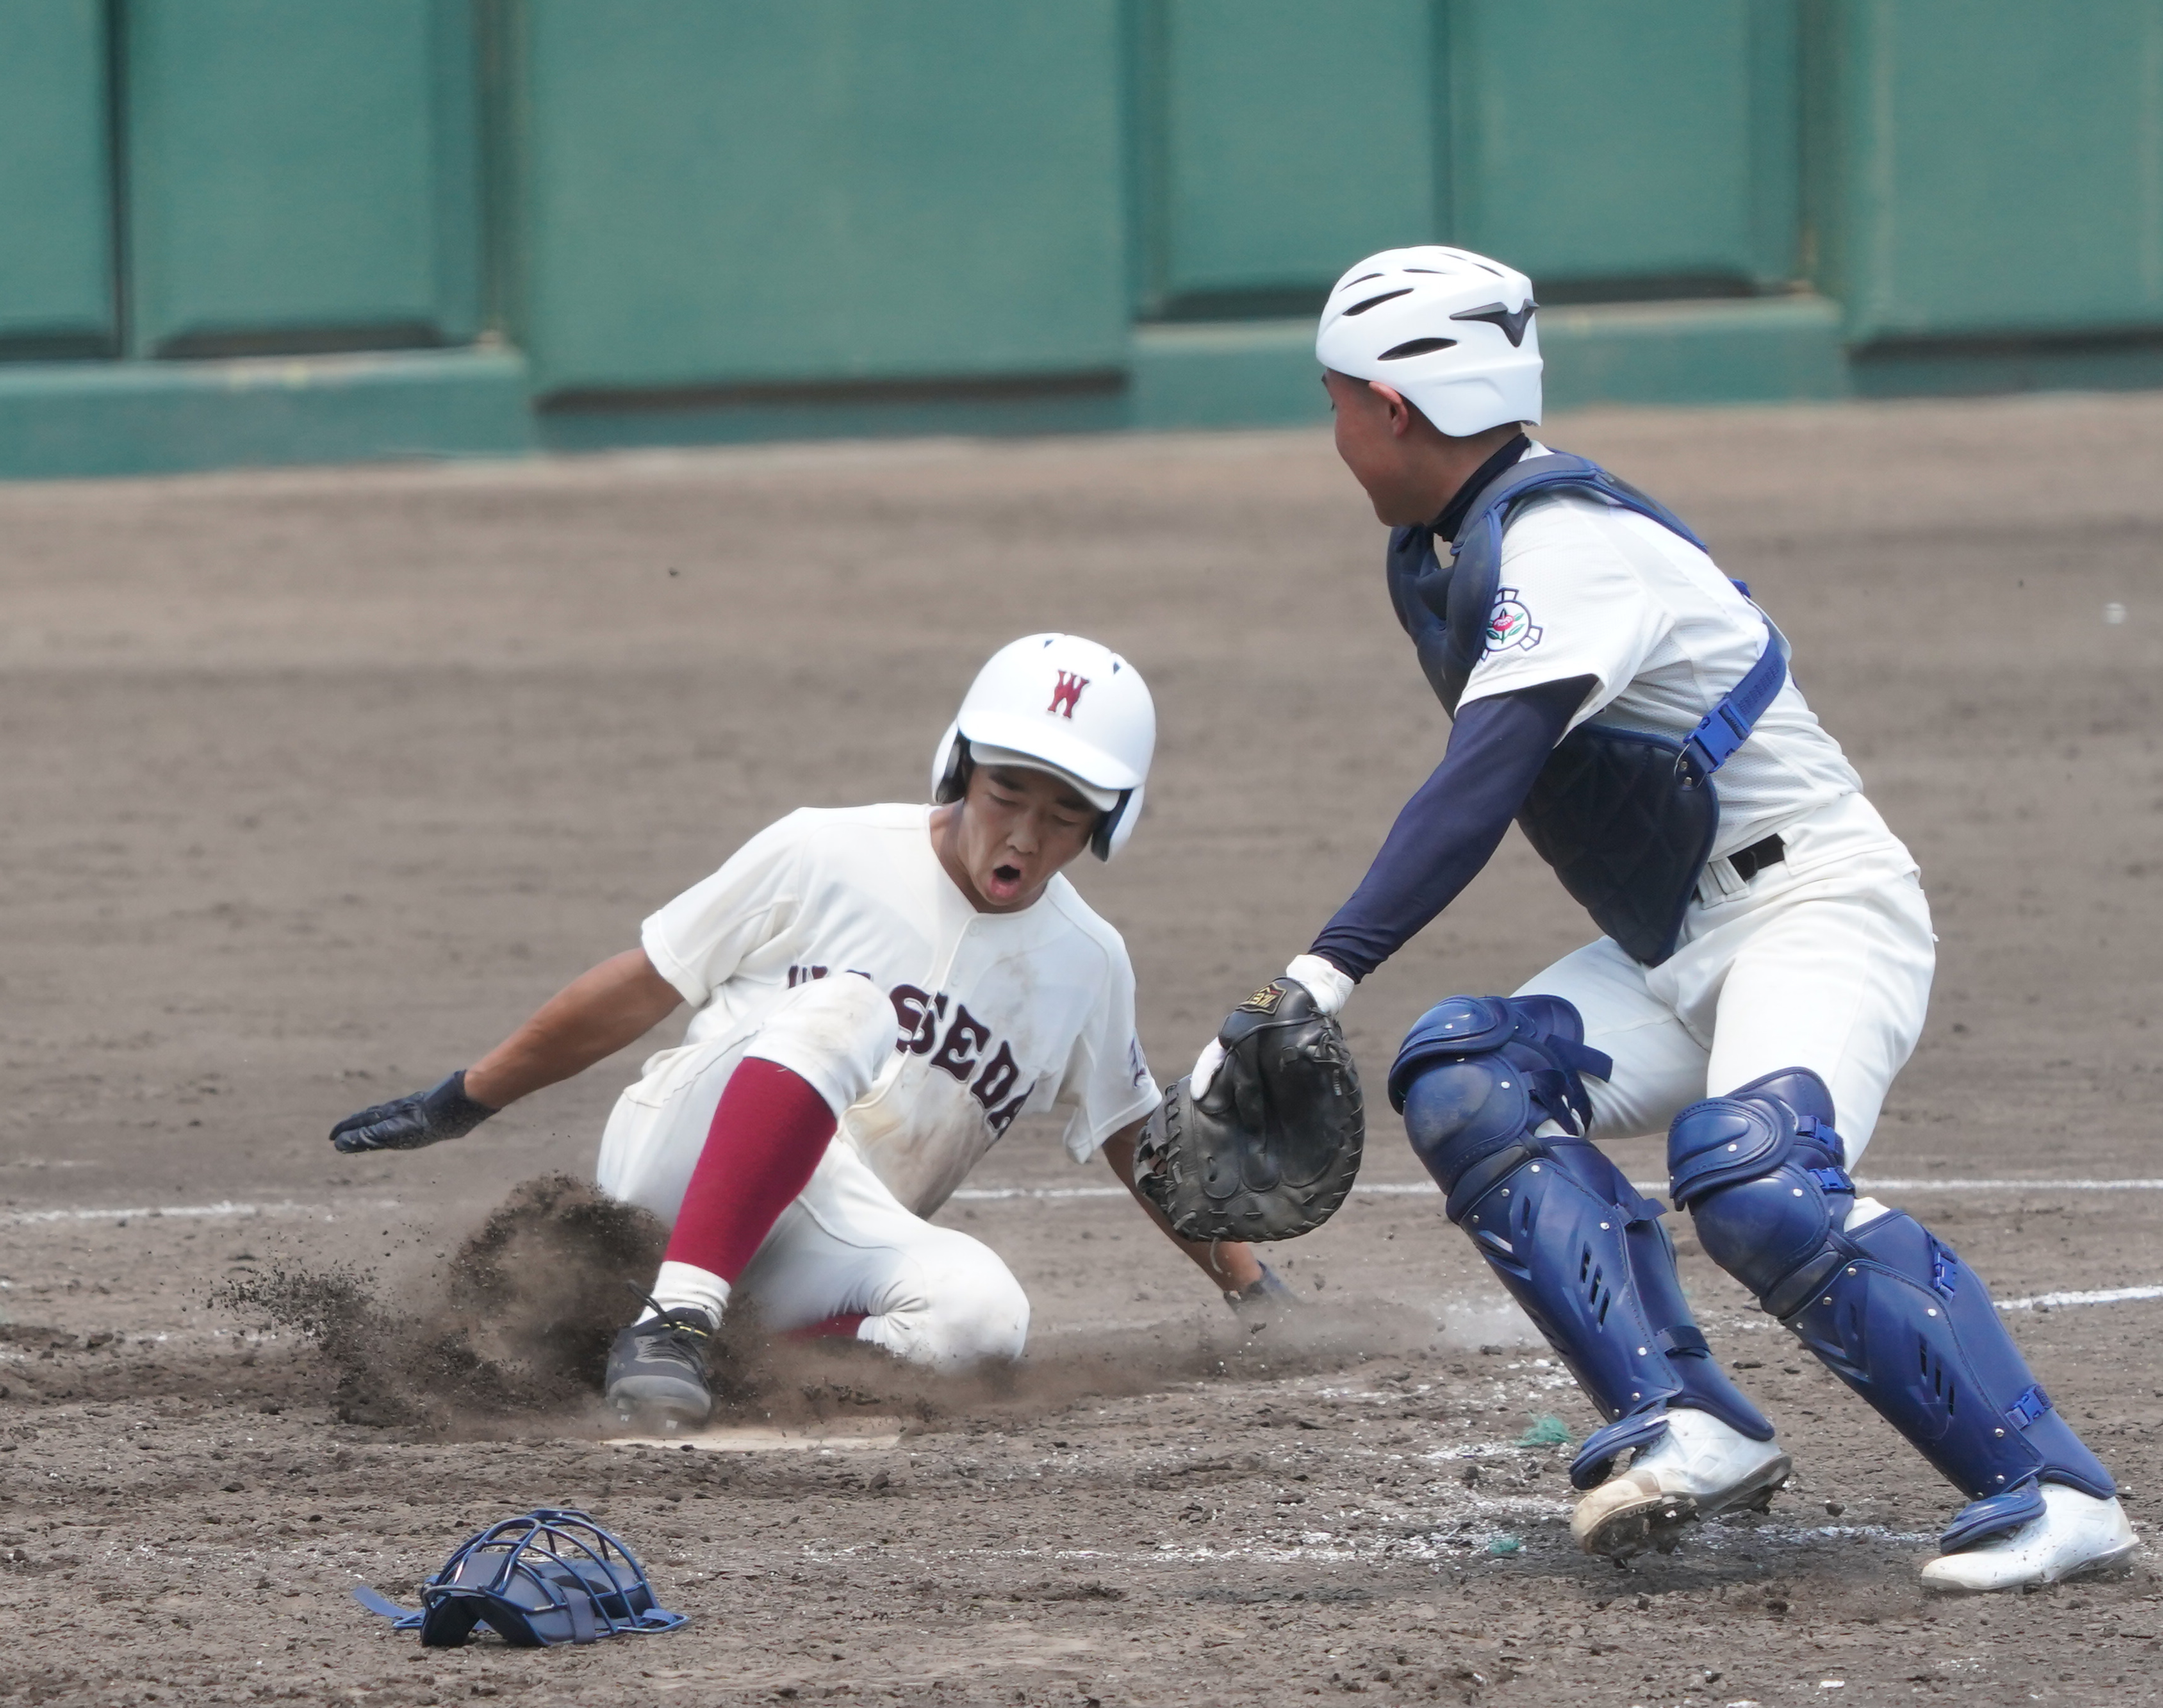
[[[532,0],[543,387],[1116,368],[1116,0]]]

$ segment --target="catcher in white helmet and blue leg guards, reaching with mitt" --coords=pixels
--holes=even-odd
[[[1389,1100],[1449,1219],[1607,1418],[1570,1472],[1579,1544],[1672,1546],[1789,1475],[1691,1319],[1666,1206],[1596,1144],[1666,1133],[1704,1252],[1964,1496],[1929,1587],[2122,1561],[2135,1539],[2111,1475],[1981,1278],[1849,1174],[1929,999],[1914,858],[1748,588],[1655,499],[1525,435],[1534,309],[1525,275],[1441,246],[1374,255],[1330,292],[1315,352],[1337,450],[1393,525],[1391,599],[1454,729],[1361,886],[1172,1087],[1144,1183],[1166,1198],[1220,1142],[1222,1120],[1181,1118],[1229,1107],[1222,1075],[1255,1079],[1257,1001],[1298,990],[1337,1014],[1516,819],[1603,934],[1512,997],[1423,1014]],[[1304,1083],[1326,1055],[1293,1062]]]

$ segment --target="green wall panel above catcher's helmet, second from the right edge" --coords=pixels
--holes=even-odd
[[[1787,0],[1456,0],[1447,54],[1456,242],[1536,281],[1793,270]]]

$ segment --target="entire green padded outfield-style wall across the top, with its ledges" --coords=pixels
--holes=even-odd
[[[1432,240],[1560,402],[2163,383],[2163,0],[0,0],[0,473],[1311,419]]]

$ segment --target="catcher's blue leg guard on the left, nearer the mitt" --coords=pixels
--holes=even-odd
[[[1451,997],[1404,1040],[1389,1100],[1449,1193],[1449,1219],[1607,1418],[1570,1466],[1592,1487],[1616,1455],[1668,1429],[1670,1405],[1761,1442],[1771,1425],[1713,1362],[1661,1206],[1583,1137],[1583,1075],[1611,1070],[1583,1036],[1560,997]],[[1564,1131],[1538,1135],[1547,1122]]]

